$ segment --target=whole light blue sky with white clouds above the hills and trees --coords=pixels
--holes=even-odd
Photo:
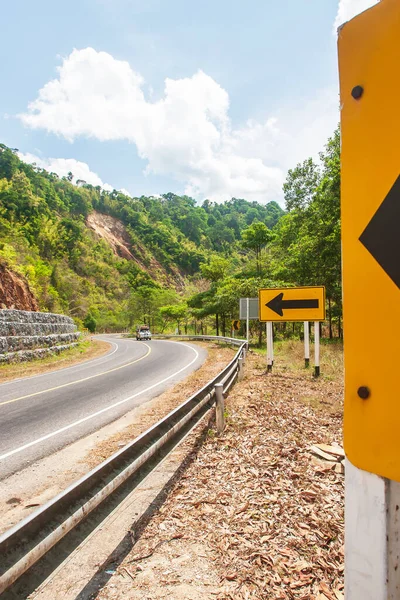
[[[0,141],[134,196],[281,201],[339,120],[335,25],[372,4],[7,3]]]

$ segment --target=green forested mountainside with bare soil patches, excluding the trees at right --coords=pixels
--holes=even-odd
[[[198,206],[187,196],[131,198],[71,180],[0,144],[0,260],[26,278],[32,307],[91,315],[100,327],[131,324],[138,291],[144,315],[150,296],[176,304],[210,256],[243,253],[249,225],[272,228],[283,215],[275,202]]]

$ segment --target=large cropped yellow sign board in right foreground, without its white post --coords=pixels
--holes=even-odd
[[[380,2],[340,29],[344,446],[355,466],[397,481],[399,64],[398,0]]]

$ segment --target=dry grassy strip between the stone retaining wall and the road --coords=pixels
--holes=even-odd
[[[46,356],[45,358],[39,358],[30,362],[0,365],[0,383],[71,367],[86,360],[102,356],[110,348],[111,345],[107,342],[91,338],[80,342],[76,348],[65,350],[61,354]]]

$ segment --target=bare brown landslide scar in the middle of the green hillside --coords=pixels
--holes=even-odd
[[[181,288],[183,279],[178,271],[171,275],[161,263],[146,252],[144,245],[132,244],[125,225],[119,219],[93,211],[87,218],[87,225],[98,237],[110,244],[114,254],[133,260],[143,271],[149,273],[159,283]]]

